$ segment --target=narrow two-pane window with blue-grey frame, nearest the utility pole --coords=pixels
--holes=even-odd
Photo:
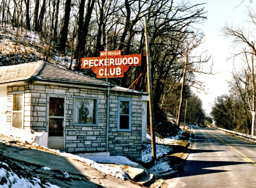
[[[131,131],[130,98],[118,98],[118,131]]]

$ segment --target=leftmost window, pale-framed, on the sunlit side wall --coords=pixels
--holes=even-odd
[[[13,127],[23,128],[24,92],[13,93]]]

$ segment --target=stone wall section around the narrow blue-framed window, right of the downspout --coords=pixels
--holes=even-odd
[[[131,131],[118,131],[118,97],[132,98]],[[126,156],[132,161],[142,161],[142,96],[110,94],[109,152],[110,155]]]

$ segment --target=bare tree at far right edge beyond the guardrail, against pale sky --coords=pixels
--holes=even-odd
[[[249,18],[252,25],[256,26],[256,17],[255,12],[249,12]],[[240,57],[242,61],[245,62],[244,69],[243,69],[243,77],[238,76],[238,74],[233,74],[233,78],[235,80],[240,80],[243,85],[236,86],[236,89],[239,91],[241,95],[245,94],[245,101],[247,102],[247,110],[249,110],[252,114],[252,135],[256,135],[256,124],[255,124],[255,115],[256,115],[256,108],[255,108],[255,73],[254,73],[254,59],[256,58],[256,40],[252,37],[252,33],[246,33],[244,28],[233,28],[232,26],[226,25],[222,28],[222,33],[226,37],[230,37],[232,39],[232,43],[234,47],[238,45],[242,45],[241,50],[237,53],[233,53],[231,58]],[[243,98],[243,96],[241,96]]]

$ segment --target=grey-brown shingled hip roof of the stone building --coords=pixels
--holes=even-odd
[[[44,61],[0,67],[0,84],[30,81],[57,82],[85,86],[113,87],[108,82],[62,69]]]

